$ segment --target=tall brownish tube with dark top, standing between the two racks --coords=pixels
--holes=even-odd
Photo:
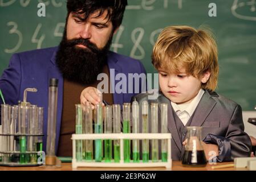
[[[48,121],[47,121],[47,144],[46,144],[46,165],[55,166],[55,139],[56,119],[58,101],[58,79],[51,78],[48,90]]]

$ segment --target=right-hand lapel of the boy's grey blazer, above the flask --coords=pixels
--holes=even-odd
[[[216,101],[214,101],[212,96],[210,96],[208,90],[205,90],[204,95],[202,96],[196,110],[194,111],[194,117],[192,118],[190,126],[202,126],[206,117],[208,117],[215,105]]]

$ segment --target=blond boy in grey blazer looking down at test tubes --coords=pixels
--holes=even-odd
[[[218,52],[213,36],[188,26],[170,26],[161,32],[152,53],[159,72],[160,95],[148,100],[168,104],[168,129],[172,133],[172,159],[184,154],[185,126],[202,126],[206,158],[217,162],[250,156],[251,142],[243,131],[242,109],[214,90],[218,81]]]

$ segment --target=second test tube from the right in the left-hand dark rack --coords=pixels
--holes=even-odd
[[[28,137],[28,151],[35,152],[36,151],[36,122],[38,119],[38,107],[36,105],[30,106],[30,119],[29,119],[29,134]],[[36,154],[29,154],[30,162],[36,164],[37,155]]]

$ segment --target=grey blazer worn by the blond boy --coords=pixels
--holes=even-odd
[[[149,94],[141,93],[133,97],[132,101],[136,100],[141,103],[147,100],[149,104],[157,102],[159,110],[161,103],[168,104],[168,130],[172,134],[172,159],[181,160],[180,156],[184,153],[185,148],[182,146],[183,141],[176,129],[172,105],[161,92],[159,94],[156,100],[148,100]],[[244,132],[242,108],[234,101],[218,95],[216,92],[210,93],[205,90],[194,111],[190,126],[201,126],[204,142],[219,146],[218,162],[231,161],[235,157],[250,156],[251,140]]]

